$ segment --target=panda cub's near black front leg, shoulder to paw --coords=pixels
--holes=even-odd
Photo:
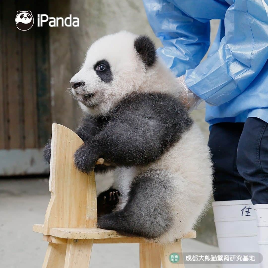
[[[183,105],[160,93],[133,93],[111,111],[92,140],[75,153],[75,164],[90,172],[99,157],[116,166],[146,165],[158,159],[192,125]]]

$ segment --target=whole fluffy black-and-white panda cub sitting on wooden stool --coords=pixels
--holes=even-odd
[[[181,238],[210,198],[210,152],[154,43],[126,31],[104,36],[70,83],[85,112],[76,167],[88,173],[102,157],[115,172],[97,198],[99,227],[161,243]]]

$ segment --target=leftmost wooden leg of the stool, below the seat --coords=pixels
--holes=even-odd
[[[64,268],[66,244],[49,243],[42,268]]]

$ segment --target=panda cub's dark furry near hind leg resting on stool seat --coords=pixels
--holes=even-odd
[[[173,223],[169,203],[172,199],[170,176],[164,170],[139,174],[131,184],[124,209],[101,216],[99,227],[147,239],[163,235]]]

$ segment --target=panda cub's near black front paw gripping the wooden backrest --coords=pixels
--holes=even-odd
[[[74,155],[74,162],[77,169],[84,173],[90,173],[95,167],[98,155],[87,144],[83,144],[78,148]]]

